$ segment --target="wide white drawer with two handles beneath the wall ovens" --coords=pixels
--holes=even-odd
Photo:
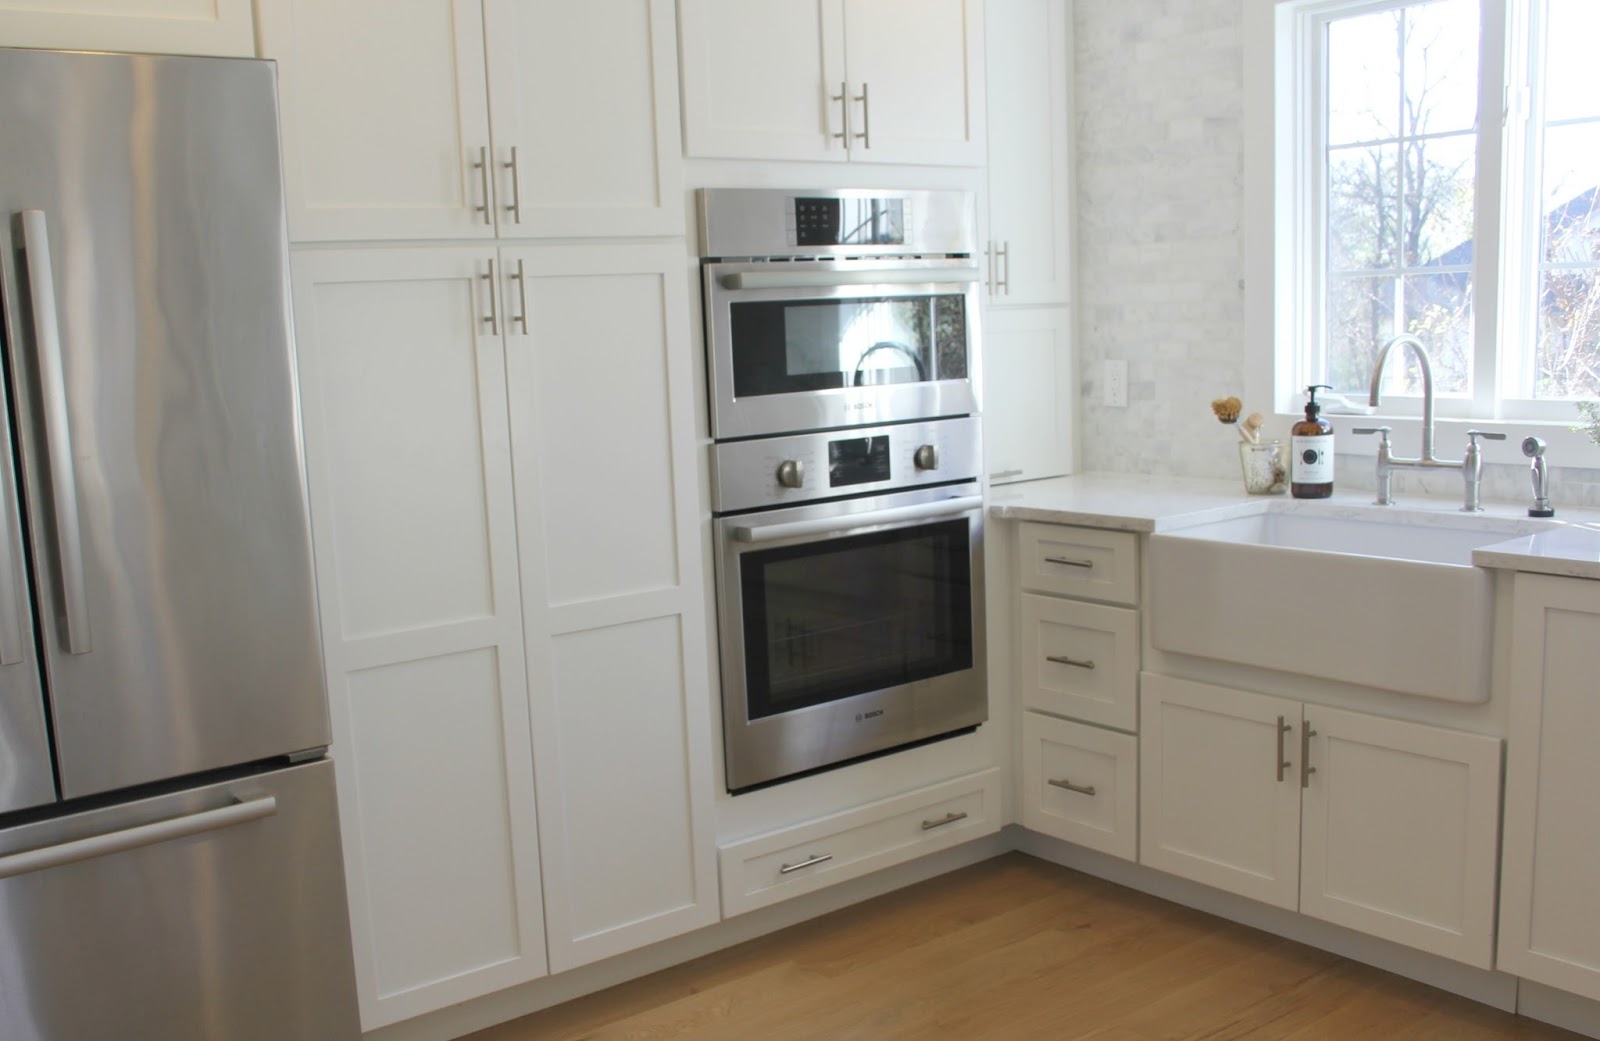
[[[989,769],[718,851],[722,913],[742,915],[1000,830]]]

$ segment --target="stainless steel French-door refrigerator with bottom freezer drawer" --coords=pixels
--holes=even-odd
[[[274,67],[0,50],[0,1038],[358,1035]]]

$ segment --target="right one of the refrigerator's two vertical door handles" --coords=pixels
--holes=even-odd
[[[50,267],[50,229],[43,209],[22,211],[22,251],[27,291],[34,305],[34,347],[45,413],[45,453],[50,494],[61,553],[61,644],[67,654],[90,652],[88,593],[83,577],[83,536],[78,524],[78,480],[67,417],[67,379],[61,366],[61,328],[56,318],[56,281]]]

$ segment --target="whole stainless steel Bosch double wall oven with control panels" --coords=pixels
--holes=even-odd
[[[731,792],[987,718],[974,201],[701,192]]]

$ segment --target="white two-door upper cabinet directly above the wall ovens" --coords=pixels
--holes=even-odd
[[[680,0],[685,152],[981,166],[981,0]]]

